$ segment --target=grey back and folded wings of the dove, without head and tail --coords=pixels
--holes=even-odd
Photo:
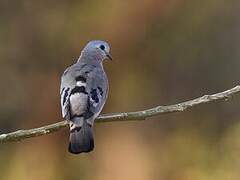
[[[106,101],[108,82],[102,68],[75,64],[64,72],[61,80],[62,115],[95,119]]]

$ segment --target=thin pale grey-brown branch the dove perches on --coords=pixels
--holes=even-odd
[[[189,100],[186,102],[174,104],[174,105],[157,106],[151,109],[146,109],[143,111],[136,111],[136,112],[122,112],[122,113],[101,115],[96,119],[96,122],[145,120],[148,117],[152,117],[160,114],[182,112],[184,110],[187,110],[193,106],[197,106],[200,104],[205,104],[205,103],[223,100],[223,99],[228,100],[232,95],[237,94],[239,92],[240,92],[240,85],[217,94],[204,95],[202,97]],[[18,130],[18,131],[7,133],[7,134],[1,134],[0,143],[20,141],[26,138],[50,134],[66,126],[68,126],[68,122],[65,120],[55,124],[43,126],[40,128]]]

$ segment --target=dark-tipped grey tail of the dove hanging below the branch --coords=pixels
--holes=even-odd
[[[68,151],[73,154],[90,152],[94,148],[93,129],[83,118],[76,117],[70,123]]]

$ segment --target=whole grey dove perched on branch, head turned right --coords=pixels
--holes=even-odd
[[[94,120],[102,111],[109,90],[104,60],[112,60],[109,44],[92,40],[77,62],[61,76],[61,108],[63,118],[69,122],[70,153],[88,153],[94,149]]]

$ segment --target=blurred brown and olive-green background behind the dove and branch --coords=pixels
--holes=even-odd
[[[229,89],[240,77],[239,0],[0,0],[0,133],[62,120],[64,69],[92,39],[111,44],[104,113]],[[95,150],[68,130],[0,145],[4,180],[238,180],[240,97],[141,122],[95,126]]]

